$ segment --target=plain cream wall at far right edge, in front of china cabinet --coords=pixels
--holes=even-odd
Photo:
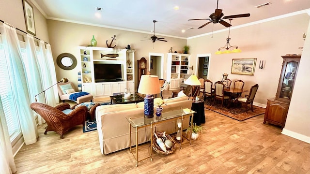
[[[307,32],[306,42],[301,55],[298,74],[295,79],[294,91],[286,118],[283,134],[310,143],[310,25]],[[302,46],[302,45],[300,45]]]

